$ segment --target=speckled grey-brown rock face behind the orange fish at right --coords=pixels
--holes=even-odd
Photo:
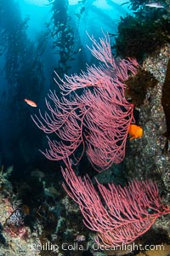
[[[129,143],[125,160],[127,177],[156,180],[166,204],[170,201],[170,152],[167,136],[170,131],[170,84],[169,76],[166,75],[170,69],[169,56],[170,45],[166,45],[144,61],[143,68],[154,75],[158,84],[148,89],[140,108],[139,124],[144,129],[144,136]],[[170,236],[169,224],[169,216],[166,216],[157,220],[155,227],[167,230]]]

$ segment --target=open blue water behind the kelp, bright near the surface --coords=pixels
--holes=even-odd
[[[86,63],[94,61],[86,47],[91,44],[87,32],[94,38],[101,37],[103,32],[116,34],[120,16],[128,11],[126,5],[121,6],[123,1],[61,2],[61,5],[68,3],[67,25],[74,33],[70,44],[74,60],[68,63],[68,70],[59,70],[59,53],[53,43],[56,35],[48,33],[48,28],[52,32],[54,26],[49,2],[3,0],[1,6],[0,159],[2,165],[17,166],[16,172],[42,159],[37,149],[42,148],[43,136],[30,117],[38,110],[26,105],[24,99],[29,98],[37,102],[38,108],[45,108],[48,90],[58,90],[53,82],[54,69],[60,76],[84,70]],[[56,17],[62,23],[65,9],[59,15]]]

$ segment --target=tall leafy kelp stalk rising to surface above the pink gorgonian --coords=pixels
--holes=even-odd
[[[54,0],[51,20],[47,22],[48,37],[52,38],[54,53],[59,55],[58,66],[54,70],[62,77],[68,74],[70,61],[74,61],[75,35],[71,27],[71,16],[67,14],[68,0]]]

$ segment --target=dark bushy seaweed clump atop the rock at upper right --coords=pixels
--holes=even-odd
[[[139,9],[135,15],[122,17],[118,24],[118,36],[113,49],[116,55],[125,58],[135,57],[143,61],[144,57],[170,43],[170,20],[164,19],[166,10],[145,11]]]

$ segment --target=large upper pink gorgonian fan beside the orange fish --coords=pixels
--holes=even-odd
[[[133,122],[133,104],[124,96],[129,74],[136,73],[137,61],[114,59],[108,36],[99,43],[90,38],[92,54],[100,61],[99,66],[89,67],[80,75],[65,75],[60,79],[59,98],[55,91],[46,99],[48,113],[33,118],[37,126],[47,134],[55,133],[56,140],[48,137],[49,149],[42,152],[49,160],[65,160],[72,156],[74,164],[84,151],[98,171],[120,163],[125,156],[129,125]],[[82,95],[80,91],[83,89]],[[77,157],[79,148],[81,156]]]

